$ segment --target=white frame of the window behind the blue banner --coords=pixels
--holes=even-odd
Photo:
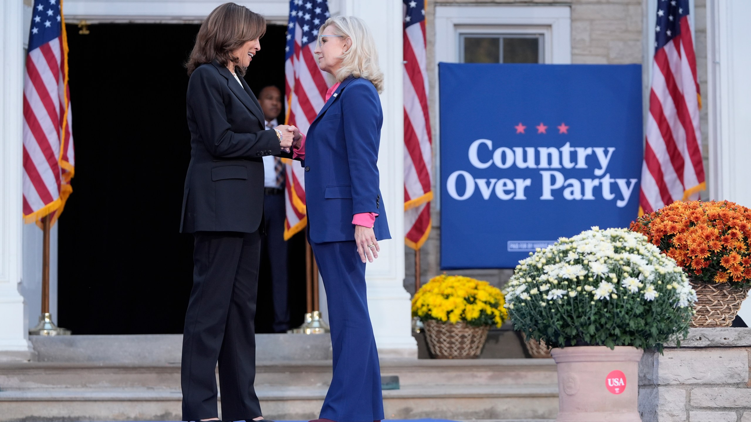
[[[436,5],[436,112],[440,116],[438,63],[459,63],[460,34],[541,34],[543,63],[571,64],[571,7],[559,5]],[[440,119],[440,117],[439,117]],[[441,145],[440,125],[434,131],[436,209],[440,209]]]

